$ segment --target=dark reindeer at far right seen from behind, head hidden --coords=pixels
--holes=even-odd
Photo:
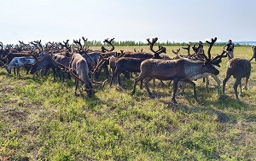
[[[244,89],[247,89],[248,79],[250,78],[251,74],[251,62],[246,58],[233,58],[228,61],[227,63],[227,72],[226,77],[223,81],[223,94],[225,95],[225,85],[229,78],[233,76],[236,78],[236,83],[234,84],[234,90],[236,93],[236,100],[240,101],[237,95],[237,86],[240,85],[240,92],[241,92],[241,78],[246,78],[246,84]],[[241,96],[244,94],[241,92]]]

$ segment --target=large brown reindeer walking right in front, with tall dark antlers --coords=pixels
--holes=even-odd
[[[154,95],[148,89],[148,82],[152,78],[157,78],[160,80],[173,80],[173,94],[172,102],[177,103],[175,95],[177,92],[177,83],[179,81],[184,81],[185,83],[190,83],[194,88],[194,97],[196,99],[195,83],[191,80],[196,78],[201,78],[201,75],[204,73],[212,73],[218,75],[219,71],[215,66],[221,62],[223,55],[218,55],[215,58],[211,59],[211,49],[213,43],[217,41],[217,37],[212,38],[212,42],[209,43],[210,47],[208,49],[208,57],[204,55],[205,61],[196,60],[189,61],[185,59],[178,60],[157,60],[157,59],[148,59],[144,60],[140,66],[141,72],[140,75],[135,78],[133,89],[131,95],[134,95],[136,91],[136,86],[138,81],[144,80],[145,88],[148,91],[148,95],[151,98],[154,98]],[[215,66],[212,66],[215,65]]]

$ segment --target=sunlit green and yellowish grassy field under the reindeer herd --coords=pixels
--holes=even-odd
[[[149,51],[148,46],[116,51],[134,48]],[[172,49],[167,47],[167,55],[174,57]],[[221,51],[214,46],[212,55]],[[235,56],[249,59],[252,51],[236,47]],[[219,68],[221,81],[226,62]],[[171,102],[172,86],[158,82],[155,99],[138,87],[131,96],[133,78],[123,81],[126,89],[94,85],[93,97],[82,90],[74,97],[73,80],[62,83],[24,71],[17,78],[0,69],[0,160],[255,160],[255,69],[253,60],[241,102],[230,78],[225,99],[213,79],[209,92],[197,80],[198,101],[188,85],[177,105]]]

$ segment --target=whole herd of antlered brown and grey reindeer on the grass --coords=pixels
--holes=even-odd
[[[148,96],[153,98],[154,95],[148,88],[148,82],[152,79],[159,79],[161,83],[165,80],[173,82],[173,103],[177,103],[175,96],[181,83],[183,83],[183,90],[186,83],[193,86],[193,95],[196,99],[194,81],[199,78],[208,78],[209,76],[218,83],[218,93],[220,94],[217,66],[220,66],[224,57],[227,57],[227,52],[223,49],[220,55],[212,57],[211,49],[217,41],[217,37],[212,38],[211,42],[206,42],[209,44],[207,55],[203,49],[196,45],[192,47],[194,53],[190,54],[190,44],[188,44],[188,47],[183,47],[183,49],[188,50],[188,54],[179,55],[180,49],[177,49],[177,51],[172,50],[176,55],[174,58],[164,55],[166,54],[166,48],[163,46],[159,46],[157,50],[154,49],[154,44],[158,40],[157,37],[151,41],[149,38],[147,39],[152,53],[143,52],[143,50],[138,52],[136,50],[134,52],[124,52],[124,50],[114,52],[113,38],[104,40],[104,44],[108,43],[111,49],[107,49],[102,45],[101,49],[92,50],[89,49],[86,43],[87,39],[82,37],[82,40],[84,44],[81,43],[81,39],[73,40],[72,44],[69,44],[69,40],[67,40],[66,42],[63,41],[63,43],[49,42],[45,45],[41,41],[33,41],[27,44],[19,41],[20,44],[15,46],[7,45],[5,48],[3,48],[3,43],[0,42],[0,66],[5,67],[9,74],[14,69],[18,77],[20,77],[21,66],[25,67],[26,74],[30,72],[40,76],[42,73],[46,75],[51,69],[54,78],[59,77],[62,81],[65,78],[71,79],[71,76],[73,76],[75,78],[74,95],[77,95],[80,82],[82,83],[82,89],[89,97],[95,93],[93,90],[94,83],[104,86],[110,80],[109,84],[112,85],[114,79],[117,78],[119,86],[123,87],[120,74],[124,75],[123,78],[129,79],[133,72],[137,72],[139,75],[134,79],[131,95],[135,94],[137,83],[140,82],[141,89],[144,83]],[[252,47],[252,49],[253,57],[251,60],[253,58],[256,60],[255,47]],[[226,78],[223,81],[223,95],[225,84],[230,76],[233,76],[236,78],[234,90],[236,99],[239,101],[237,87],[240,85],[241,89],[241,78],[246,78],[245,89],[247,89],[247,82],[251,73],[251,60],[233,58],[228,61]],[[112,71],[111,78],[109,69]],[[105,75],[106,80],[96,82],[95,79],[98,79],[102,73]],[[243,95],[242,92],[241,95]]]

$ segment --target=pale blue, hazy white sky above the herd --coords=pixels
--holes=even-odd
[[[255,0],[2,0],[0,41],[256,40]]]

